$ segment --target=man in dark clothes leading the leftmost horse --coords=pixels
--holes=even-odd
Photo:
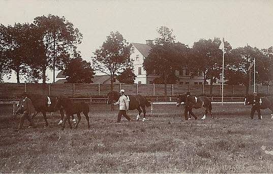
[[[18,129],[22,129],[23,125],[24,125],[24,120],[27,119],[28,122],[30,123],[30,125],[34,128],[36,128],[36,125],[34,124],[32,118],[31,118],[31,114],[33,112],[33,107],[32,107],[32,100],[27,98],[27,94],[26,92],[23,93],[22,95],[23,100],[22,100],[22,104],[21,104],[21,108],[20,111],[23,112],[21,118],[20,118],[20,123],[19,123],[19,128]]]

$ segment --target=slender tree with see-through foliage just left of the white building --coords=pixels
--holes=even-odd
[[[107,40],[103,42],[99,49],[96,49],[94,54],[94,68],[110,75],[110,89],[112,92],[115,74],[131,66],[128,43],[119,32],[111,32],[107,36]]]

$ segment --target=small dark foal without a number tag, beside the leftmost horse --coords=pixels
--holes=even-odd
[[[81,112],[83,112],[85,119],[88,123],[88,129],[90,128],[89,117],[88,117],[89,106],[87,103],[85,103],[84,101],[73,102],[69,98],[61,96],[61,97],[56,98],[56,107],[60,107],[60,106],[64,107],[65,113],[66,113],[66,117],[64,119],[62,130],[65,129],[66,121],[68,121],[69,126],[72,129],[71,122],[70,122],[70,116],[72,116],[75,113],[77,114],[77,117],[78,117],[78,122],[75,126],[75,129],[76,129],[80,123],[80,120],[81,120],[81,116],[80,116]]]

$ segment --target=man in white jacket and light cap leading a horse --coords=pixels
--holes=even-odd
[[[120,97],[118,99],[117,102],[114,103],[114,105],[118,105],[119,104],[119,112],[117,115],[117,123],[120,122],[120,120],[122,119],[122,115],[124,115],[124,117],[128,120],[128,121],[132,121],[132,119],[127,115],[126,110],[129,109],[129,101],[127,99],[127,97],[124,95],[125,90],[120,90]]]

